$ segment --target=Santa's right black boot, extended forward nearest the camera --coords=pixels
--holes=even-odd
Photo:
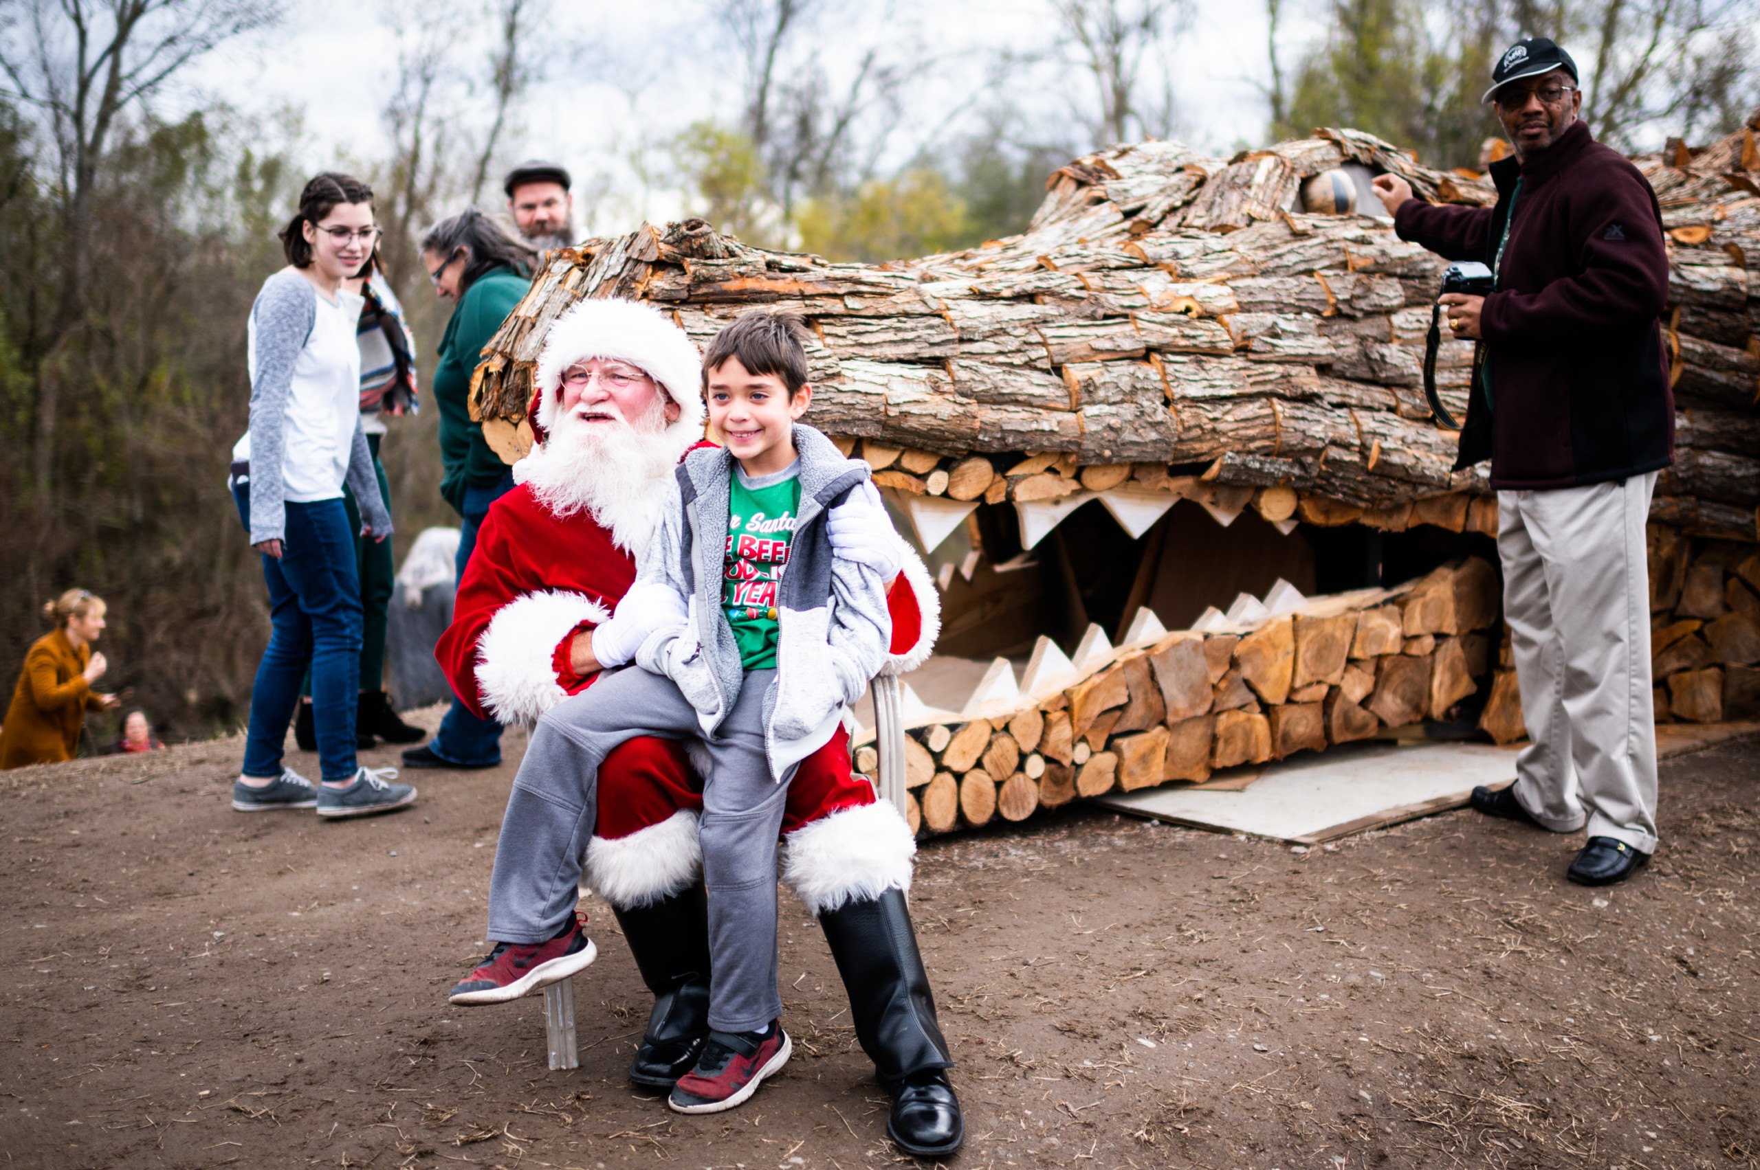
[[[822,911],[818,925],[850,994],[855,1038],[892,1094],[887,1137],[917,1158],[952,1154],[966,1137],[966,1122],[947,1080],[954,1061],[935,1022],[935,996],[905,892],[887,890]]]

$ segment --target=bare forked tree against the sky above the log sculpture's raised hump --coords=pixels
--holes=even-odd
[[[1162,53],[1192,21],[1192,0],[1054,0],[1075,63],[1093,79],[1095,137],[1125,143],[1165,134],[1174,120],[1172,77]],[[1146,58],[1162,58],[1160,104],[1144,90]]]

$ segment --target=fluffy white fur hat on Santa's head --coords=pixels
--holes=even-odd
[[[590,357],[639,366],[678,403],[667,435],[679,449],[702,438],[702,357],[672,320],[637,301],[590,299],[556,318],[539,355],[537,392],[526,417],[542,443],[561,405],[561,375]]]

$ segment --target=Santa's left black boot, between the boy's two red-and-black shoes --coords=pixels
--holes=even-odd
[[[671,1089],[709,1036],[709,903],[700,885],[649,906],[612,908],[642,982],[655,994],[630,1080]]]

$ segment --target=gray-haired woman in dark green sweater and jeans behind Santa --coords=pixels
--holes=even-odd
[[[433,394],[440,406],[445,470],[440,494],[463,519],[454,561],[463,579],[489,505],[514,487],[512,468],[484,440],[482,424],[470,417],[470,375],[482,347],[532,287],[528,271],[535,253],[475,208],[429,227],[421,246],[435,294],[456,306],[440,338]],[[500,762],[502,725],[479,720],[456,698],[440,721],[440,734],[403,753],[408,767],[473,769]]]

